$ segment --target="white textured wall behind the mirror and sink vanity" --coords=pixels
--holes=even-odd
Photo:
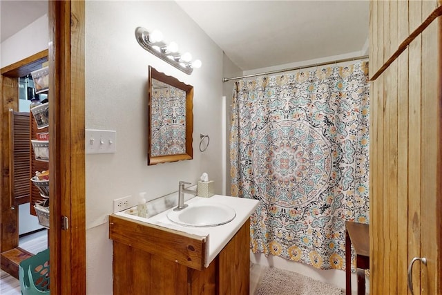
[[[192,75],[142,49],[135,28],[159,29],[180,52],[202,61]],[[86,155],[88,294],[112,292],[112,242],[107,215],[113,199],[146,191],[151,200],[196,183],[206,171],[222,192],[223,53],[172,1],[86,1],[86,128],[117,131],[117,152]],[[147,166],[148,65],[194,86],[193,160]],[[200,133],[210,135],[201,153]],[[133,198],[135,204],[136,198]]]

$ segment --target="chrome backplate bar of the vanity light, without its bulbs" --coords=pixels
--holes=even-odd
[[[155,50],[154,48],[152,48],[152,46],[154,44],[159,46],[160,48],[164,48],[164,46],[166,46],[166,44],[164,44],[163,42],[149,43],[149,41],[148,41],[149,40],[149,32],[145,28],[137,27],[135,29],[135,38],[137,39],[138,44],[140,44],[140,46],[142,48],[147,50],[149,53],[152,53],[156,57],[160,57],[160,59],[166,61],[166,63],[171,64],[172,66],[175,66],[175,68],[182,70],[187,75],[191,75],[191,73],[193,72],[193,68],[191,67],[191,64],[185,64],[184,66],[182,66],[180,64],[180,62],[175,59],[175,57],[177,57],[177,54],[173,54],[174,58],[170,59],[169,57],[167,57],[166,53],[162,52],[163,50],[158,51],[158,50]]]

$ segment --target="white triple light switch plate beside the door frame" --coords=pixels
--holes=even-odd
[[[86,129],[86,153],[115,153],[117,131]]]

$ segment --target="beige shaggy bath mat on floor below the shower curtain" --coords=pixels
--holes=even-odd
[[[341,295],[334,285],[314,280],[296,272],[269,267],[256,295]]]

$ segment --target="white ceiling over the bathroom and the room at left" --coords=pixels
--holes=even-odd
[[[367,50],[369,1],[177,1],[242,70]],[[48,1],[0,1],[1,41]]]

